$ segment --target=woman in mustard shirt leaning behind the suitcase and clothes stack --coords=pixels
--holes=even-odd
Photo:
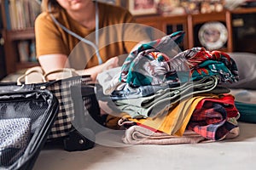
[[[38,61],[45,72],[85,69],[84,74],[95,80],[98,73],[118,66],[116,56],[148,39],[137,25],[123,24],[134,22],[127,9],[107,3],[43,0],[42,10],[35,32]]]

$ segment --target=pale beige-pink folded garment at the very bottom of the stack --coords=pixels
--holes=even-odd
[[[196,144],[205,138],[193,131],[186,130],[183,136],[153,132],[146,127],[132,126],[125,130],[122,138],[125,144]]]

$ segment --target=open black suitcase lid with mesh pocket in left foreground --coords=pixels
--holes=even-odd
[[[0,87],[0,169],[32,169],[58,113],[48,90]]]

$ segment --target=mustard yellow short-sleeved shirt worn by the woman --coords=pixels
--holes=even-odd
[[[99,53],[102,61],[122,54],[128,54],[137,44],[148,38],[134,22],[131,13],[121,7],[98,3],[99,11]],[[54,14],[55,19],[68,30],[95,42],[95,28],[89,30],[73,20],[65,10]],[[131,24],[123,24],[131,23]],[[35,21],[37,56],[44,54],[67,54],[71,67],[90,68],[98,65],[96,51],[90,45],[57,26],[49,13],[43,12]]]

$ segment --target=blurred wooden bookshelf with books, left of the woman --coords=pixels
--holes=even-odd
[[[34,20],[40,13],[39,3],[30,0],[0,2],[6,74],[38,65],[35,59]]]

